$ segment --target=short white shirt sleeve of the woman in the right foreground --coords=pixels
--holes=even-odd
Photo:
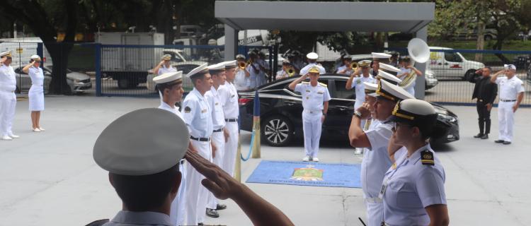
[[[423,169],[416,179],[417,194],[422,206],[426,208],[435,204],[446,205],[444,175],[440,175],[435,167],[423,167],[428,169]]]

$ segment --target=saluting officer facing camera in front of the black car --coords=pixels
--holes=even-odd
[[[288,87],[302,96],[302,130],[304,131],[304,162],[319,162],[319,140],[321,139],[321,129],[326,112],[329,109],[331,99],[329,89],[326,84],[319,83],[319,67],[314,66],[308,73],[295,81]],[[309,76],[309,82],[302,82]]]

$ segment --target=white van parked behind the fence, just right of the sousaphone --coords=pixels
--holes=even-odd
[[[428,68],[438,78],[462,78],[468,80],[478,69],[485,64],[465,59],[459,52],[433,52],[433,50],[452,50],[445,47],[430,47],[430,60]]]

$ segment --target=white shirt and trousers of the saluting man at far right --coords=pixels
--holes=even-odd
[[[524,83],[513,76],[496,78],[496,84],[500,85],[500,102],[498,102],[498,128],[499,138],[502,141],[513,139],[513,126],[515,124],[515,112],[513,106],[516,104],[518,93],[524,92]]]

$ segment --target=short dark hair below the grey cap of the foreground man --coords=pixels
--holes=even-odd
[[[109,173],[113,186],[122,202],[130,211],[148,211],[160,208],[179,172],[178,164],[156,174],[127,176]]]

